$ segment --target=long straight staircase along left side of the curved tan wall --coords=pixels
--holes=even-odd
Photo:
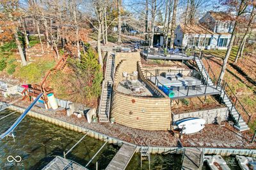
[[[100,105],[98,110],[99,122],[109,122],[109,112],[111,104],[111,94],[113,87],[113,75],[115,67],[114,55],[107,55],[106,71],[104,81],[102,83],[102,91],[100,96]]]

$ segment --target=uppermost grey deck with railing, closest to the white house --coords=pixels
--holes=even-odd
[[[189,57],[185,54],[172,54],[172,55],[159,55],[158,53],[156,53],[155,55],[150,54],[150,53],[143,53],[143,58],[146,60],[193,60],[194,57]]]

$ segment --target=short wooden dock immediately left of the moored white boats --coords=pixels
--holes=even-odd
[[[195,170],[200,167],[201,152],[198,148],[186,148],[182,168],[184,170]]]

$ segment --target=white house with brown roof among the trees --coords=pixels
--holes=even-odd
[[[227,49],[234,27],[232,16],[224,12],[208,11],[195,25],[178,25],[175,29],[176,46],[205,49]]]

